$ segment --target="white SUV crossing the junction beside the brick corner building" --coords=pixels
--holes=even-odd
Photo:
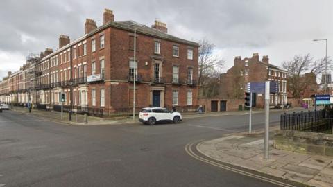
[[[180,123],[182,115],[179,112],[170,112],[166,108],[146,107],[139,113],[139,121],[149,125],[154,125],[156,122]]]

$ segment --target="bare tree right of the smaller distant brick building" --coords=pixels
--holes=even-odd
[[[282,67],[288,71],[287,89],[294,98],[300,98],[305,90],[314,82],[317,75],[325,71],[325,58],[314,60],[308,53],[306,55],[295,55],[292,60],[282,63]],[[327,69],[332,60],[327,57]]]

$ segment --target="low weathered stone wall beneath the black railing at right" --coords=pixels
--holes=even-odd
[[[279,130],[274,136],[273,147],[278,150],[333,157],[333,134]]]

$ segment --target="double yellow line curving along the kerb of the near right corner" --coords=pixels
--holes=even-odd
[[[222,168],[222,169],[225,169],[225,170],[229,170],[229,171],[232,171],[232,172],[236,172],[236,173],[239,173],[241,175],[246,175],[248,177],[253,177],[253,178],[256,178],[256,179],[259,179],[259,180],[262,180],[262,181],[266,181],[266,182],[269,182],[271,184],[276,184],[278,186],[284,186],[284,187],[296,187],[294,185],[291,185],[291,184],[286,184],[282,181],[277,181],[277,180],[274,180],[274,179],[270,179],[268,177],[263,177],[263,176],[260,176],[260,175],[255,175],[254,173],[251,173],[251,172],[246,172],[244,170],[239,170],[237,168],[232,168],[230,166],[225,166],[224,164],[222,163],[218,163],[216,161],[210,161],[208,159],[205,159],[203,157],[200,157],[198,154],[196,154],[192,149],[194,147],[194,145],[196,144],[196,142],[192,142],[192,143],[187,143],[187,145],[185,146],[185,151],[187,152],[187,154],[189,154],[191,157],[194,157],[195,159],[198,159],[199,161],[203,161],[205,163],[208,163],[212,166],[216,166],[216,167],[219,167],[219,168]]]

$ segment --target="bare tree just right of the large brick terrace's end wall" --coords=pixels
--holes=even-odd
[[[225,61],[213,54],[215,45],[207,39],[201,40],[199,44],[198,84],[200,97],[212,98],[219,95],[219,75]]]

